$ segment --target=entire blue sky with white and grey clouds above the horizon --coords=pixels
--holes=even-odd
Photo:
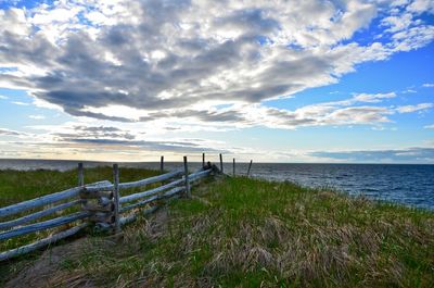
[[[0,158],[434,164],[434,0],[0,0]]]

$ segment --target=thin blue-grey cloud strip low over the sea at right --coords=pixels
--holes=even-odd
[[[434,148],[397,150],[318,151],[310,155],[343,162],[365,163],[433,163]]]

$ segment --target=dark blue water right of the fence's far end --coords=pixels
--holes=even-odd
[[[434,210],[434,165],[256,164],[254,176]]]

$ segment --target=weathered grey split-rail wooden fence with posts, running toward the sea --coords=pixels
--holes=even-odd
[[[210,165],[209,162],[208,164],[205,164],[204,154],[202,167],[191,174],[188,172],[187,156],[184,156],[183,160],[183,167],[179,170],[129,183],[119,183],[118,165],[114,164],[113,183],[110,180],[103,180],[86,185],[84,184],[84,170],[82,164],[80,163],[78,165],[79,186],[0,208],[0,218],[23,214],[29,210],[40,208],[43,209],[28,215],[1,222],[0,240],[9,240],[11,238],[24,236],[30,233],[68,225],[66,229],[47,238],[1,252],[0,261],[40,249],[44,246],[73,236],[88,226],[94,226],[98,229],[114,230],[115,233],[118,233],[120,231],[120,227],[123,225],[135,221],[139,213],[149,214],[155,211],[157,208],[156,205],[149,205],[152,202],[173,197],[190,197],[191,185],[194,185],[199,179],[202,179],[210,174],[220,172],[215,165]],[[220,166],[222,167],[222,163],[220,163]],[[163,170],[163,167],[162,158],[161,170]],[[144,188],[145,186],[157,184],[159,184],[158,187],[148,190]],[[129,188],[143,188],[143,191],[122,196],[123,190]],[[68,202],[59,203],[66,200],[68,200]],[[146,205],[148,209],[138,210],[127,214],[127,212],[131,212],[133,209]],[[78,211],[76,209],[75,212],[69,212],[67,215],[33,223],[39,218],[58,214],[61,211],[67,211],[68,209],[71,211],[71,209],[75,206],[79,208]],[[71,227],[72,223],[76,223],[77,221],[81,221],[81,223]]]

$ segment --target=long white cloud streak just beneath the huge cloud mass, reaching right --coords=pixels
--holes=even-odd
[[[149,113],[146,121],[159,118],[190,118],[204,125],[218,125],[228,128],[265,126],[270,128],[294,129],[302,126],[324,125],[379,125],[392,122],[390,116],[410,113],[431,108],[431,103],[400,107],[378,107],[383,101],[396,97],[395,92],[355,93],[352,98],[301,107],[295,110],[269,108],[264,104],[233,104],[220,109],[170,110]]]

